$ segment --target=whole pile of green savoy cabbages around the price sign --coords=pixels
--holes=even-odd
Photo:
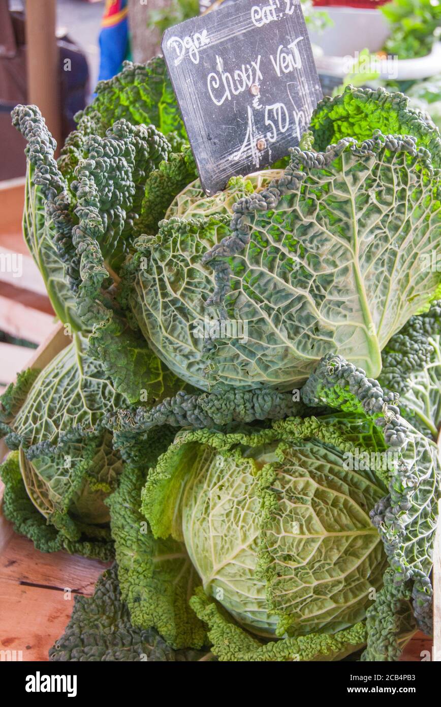
[[[116,557],[52,660],[396,660],[431,631],[439,132],[349,87],[206,197],[162,59],[77,118],[57,162],[13,110],[73,341],[3,397],[4,511]]]

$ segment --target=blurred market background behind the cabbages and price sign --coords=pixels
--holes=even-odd
[[[97,81],[158,54],[170,25],[235,1],[0,0],[0,392],[54,322],[21,233],[25,144],[12,108],[38,105],[61,145]],[[441,0],[300,1],[325,94],[401,90],[441,127]]]

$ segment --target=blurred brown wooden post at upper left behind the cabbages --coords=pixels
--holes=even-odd
[[[55,37],[55,0],[26,0],[26,71],[28,103],[35,103],[47,127],[61,142],[59,53]]]

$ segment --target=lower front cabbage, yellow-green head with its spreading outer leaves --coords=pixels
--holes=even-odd
[[[363,660],[397,660],[417,627],[430,631],[437,445],[401,417],[396,394],[339,356],[319,363],[302,399],[327,410],[177,434],[141,492],[142,574],[117,531],[127,501],[112,503],[136,625],[164,635],[165,624],[175,641],[177,623],[200,647],[182,607],[192,594],[213,654],[240,661],[335,660],[364,645]],[[200,585],[186,566],[172,597],[165,580],[186,554]]]

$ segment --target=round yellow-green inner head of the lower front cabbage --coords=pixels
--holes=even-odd
[[[345,425],[359,438],[369,433],[355,419]],[[347,442],[325,441],[338,433],[338,419],[292,420],[225,436],[220,449],[209,436],[184,444],[184,434],[163,461],[175,472],[172,488],[184,487],[170,508],[172,532],[206,594],[261,636],[346,629],[365,619],[382,587],[387,556],[369,511],[386,489],[371,469],[345,468]]]

